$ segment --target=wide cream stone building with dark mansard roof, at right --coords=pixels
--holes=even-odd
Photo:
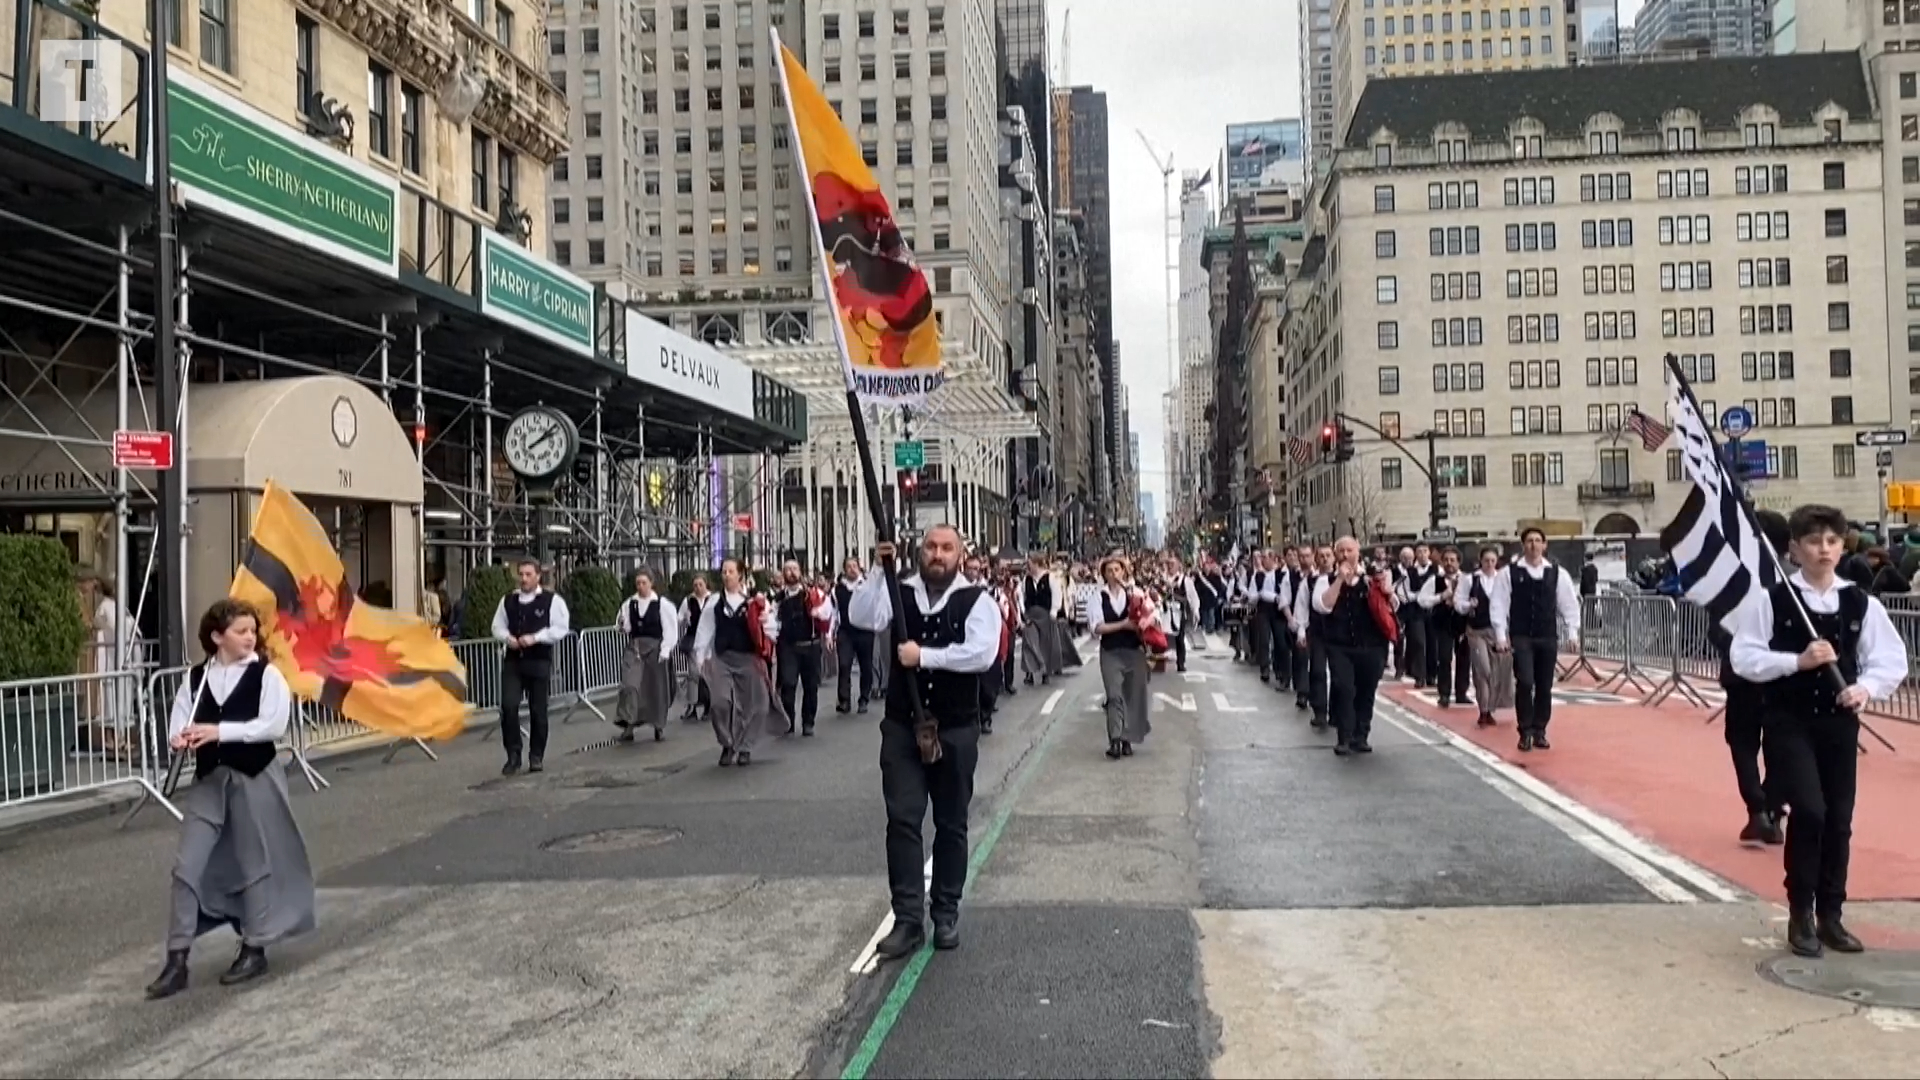
[[[1294,430],[1357,459],[1296,480],[1309,528],[1417,532],[1432,432],[1465,534],[1653,532],[1688,484],[1624,430],[1672,354],[1709,419],[1753,413],[1759,505],[1878,517],[1889,423],[1882,127],[1853,54],[1369,85],[1321,213],[1327,319],[1290,357]],[[1645,213],[1640,209],[1645,208]],[[1872,282],[1853,288],[1853,282]],[[1413,446],[1413,450],[1407,450]],[[1419,461],[1413,459],[1419,457]]]

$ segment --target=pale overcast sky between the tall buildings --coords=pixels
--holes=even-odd
[[[1630,23],[1640,4],[1620,0],[1620,21]],[[1140,490],[1154,492],[1164,519],[1165,217],[1160,167],[1137,133],[1156,154],[1171,152],[1175,169],[1210,169],[1229,123],[1298,117],[1300,8],[1296,0],[1056,0],[1048,8],[1056,81],[1106,90],[1114,336],[1140,434]]]

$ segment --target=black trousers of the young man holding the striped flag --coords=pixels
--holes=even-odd
[[[1788,813],[1788,907],[1839,919],[1847,903],[1860,719],[1766,715],[1768,792]]]

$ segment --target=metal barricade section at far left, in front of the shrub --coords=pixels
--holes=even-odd
[[[136,786],[179,819],[148,703],[140,671],[0,682],[0,807]]]

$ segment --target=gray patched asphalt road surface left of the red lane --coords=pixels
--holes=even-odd
[[[584,713],[540,776],[493,732],[324,765],[323,926],[238,992],[207,938],[140,999],[163,815],[0,838],[0,1076],[1920,1074],[1920,1015],[1755,974],[1774,905],[1409,713],[1338,759],[1225,653],[1152,692],[1123,761],[1092,665],[1004,701],[964,944],[893,965],[877,713],[831,690],[745,771]]]

